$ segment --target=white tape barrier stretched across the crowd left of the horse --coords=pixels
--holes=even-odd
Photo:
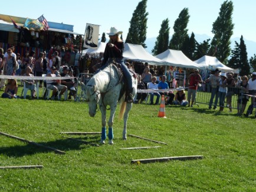
[[[13,76],[0,75],[0,79],[15,79],[15,80],[68,80],[77,77],[28,77],[28,76]]]

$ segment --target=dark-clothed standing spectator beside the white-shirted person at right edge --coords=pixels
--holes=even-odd
[[[244,95],[244,94],[248,94],[248,88],[249,88],[248,77],[246,75],[242,77],[242,82],[240,82],[237,85],[237,88],[240,89],[238,98],[237,98],[237,115],[241,116],[244,113],[247,101],[249,101],[248,96]],[[241,107],[241,104],[242,104],[242,107]]]

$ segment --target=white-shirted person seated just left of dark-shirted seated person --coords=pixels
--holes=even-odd
[[[56,77],[55,74],[56,68],[54,66],[51,67],[51,73],[47,74],[47,77]],[[61,95],[67,90],[65,85],[60,85],[56,80],[47,80],[47,88],[52,90],[51,100],[54,100],[55,94],[58,90],[61,90],[58,100],[60,100]]]

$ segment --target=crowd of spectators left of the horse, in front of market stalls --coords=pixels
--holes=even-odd
[[[43,74],[48,77],[70,77],[70,79],[65,80],[47,80],[42,85],[42,80],[34,81],[31,78],[28,80],[21,80],[22,84],[25,84],[25,88],[31,90],[31,99],[35,99],[35,94],[37,88],[45,87],[49,90],[52,90],[51,99],[58,97],[60,99],[61,95],[65,90],[70,90],[68,98],[73,96],[76,98],[76,82],[74,77],[74,69],[78,69],[79,61],[81,59],[80,54],[78,54],[77,49],[74,49],[75,62],[73,67],[68,66],[68,61],[70,57],[67,55],[70,54],[70,51],[66,51],[66,54],[63,54],[64,48],[61,50],[51,48],[48,51],[40,52],[38,57],[35,57],[35,51],[26,51],[25,55],[20,55],[18,52],[15,54],[15,48],[10,47],[4,52],[3,48],[0,48],[0,74],[2,75],[11,75],[11,76],[27,76],[27,77],[42,77]],[[14,83],[15,82],[15,83]],[[6,85],[5,85],[6,83]],[[36,85],[38,83],[38,86]],[[17,85],[14,88],[14,85]],[[2,98],[19,98],[17,96],[18,84],[14,79],[1,79],[0,84],[1,90],[4,90]],[[58,94],[57,94],[58,92]]]

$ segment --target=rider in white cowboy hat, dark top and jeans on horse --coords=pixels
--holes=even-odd
[[[130,75],[129,69],[124,64],[123,59],[123,49],[124,49],[124,42],[119,37],[122,34],[122,31],[117,30],[115,27],[110,28],[110,32],[107,33],[109,35],[109,42],[106,45],[104,54],[103,54],[103,61],[101,63],[100,69],[107,67],[111,62],[117,62],[121,65],[124,78],[127,81],[127,91],[126,91],[126,98],[124,101],[126,102],[133,102],[133,84],[132,84],[132,76]],[[99,72],[96,71],[96,73]]]

